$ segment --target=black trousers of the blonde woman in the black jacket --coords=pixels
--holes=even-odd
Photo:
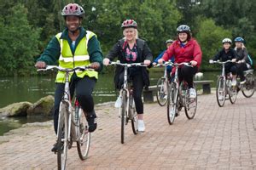
[[[119,75],[119,87],[122,87],[124,83],[124,74],[125,72],[122,72]],[[133,72],[133,73],[128,73],[128,77],[130,81],[132,81],[133,85],[133,98],[135,102],[135,107],[137,114],[143,114],[143,99],[142,99],[142,94],[143,94],[143,87],[144,87],[144,82],[143,82],[143,73],[141,70]],[[119,88],[120,89],[120,88]]]

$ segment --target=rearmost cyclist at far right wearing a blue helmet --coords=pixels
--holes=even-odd
[[[239,58],[236,64],[237,75],[240,77],[240,83],[244,84],[246,82],[246,79],[244,77],[243,71],[247,71],[248,69],[252,68],[252,59],[249,57],[247,53],[247,48],[244,45],[244,39],[242,37],[236,37],[235,44],[236,47],[234,49],[236,50],[236,53]]]

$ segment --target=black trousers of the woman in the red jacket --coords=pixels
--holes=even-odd
[[[183,80],[188,82],[189,88],[193,88],[193,77],[195,73],[198,71],[198,68],[183,65],[183,67],[178,68],[178,81],[182,82]]]

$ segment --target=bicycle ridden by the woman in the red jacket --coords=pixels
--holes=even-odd
[[[182,110],[184,107],[185,114],[187,118],[193,119],[196,112],[197,107],[197,94],[195,95],[195,99],[189,98],[189,86],[188,83],[185,81],[178,82],[178,67],[180,65],[187,65],[190,67],[193,67],[190,65],[190,63],[172,63],[168,62],[165,63],[165,65],[172,65],[175,67],[175,75],[173,78],[173,81],[170,84],[170,87],[168,89],[168,95],[167,95],[167,119],[170,125],[173,124],[175,120],[175,116],[178,115],[178,112]],[[196,87],[195,83],[193,83],[193,87]]]

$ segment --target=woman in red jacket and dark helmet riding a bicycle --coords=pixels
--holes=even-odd
[[[191,37],[189,26],[181,25],[177,27],[177,40],[166,50],[158,62],[161,64],[174,56],[176,63],[189,62],[193,67],[182,65],[178,71],[179,82],[183,79],[189,85],[189,97],[195,98],[195,88],[193,88],[193,77],[201,65],[201,48],[198,42]],[[172,70],[173,71],[173,70]]]

